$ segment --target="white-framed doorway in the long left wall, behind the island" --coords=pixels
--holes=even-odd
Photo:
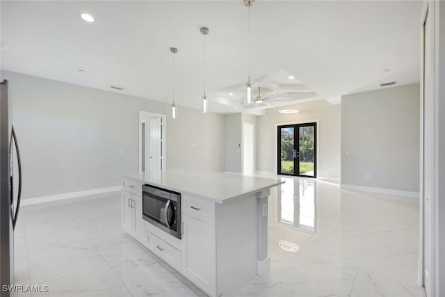
[[[165,115],[139,111],[139,171],[165,168]]]

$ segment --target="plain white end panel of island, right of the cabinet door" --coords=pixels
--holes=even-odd
[[[216,204],[217,295],[233,296],[257,275],[257,195]]]

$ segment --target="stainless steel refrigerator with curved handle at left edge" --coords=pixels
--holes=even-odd
[[[22,166],[13,127],[13,106],[8,98],[8,81],[2,81],[0,86],[0,296],[6,297],[10,296],[10,291],[4,286],[14,284],[14,229],[22,193]]]

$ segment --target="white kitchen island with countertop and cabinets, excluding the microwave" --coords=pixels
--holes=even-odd
[[[122,227],[209,296],[233,296],[270,270],[268,196],[277,179],[165,170],[122,177]],[[180,193],[181,238],[143,219],[143,185]]]

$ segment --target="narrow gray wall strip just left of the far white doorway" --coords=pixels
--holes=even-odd
[[[241,172],[242,170],[241,118],[241,113],[225,115],[225,171]]]

